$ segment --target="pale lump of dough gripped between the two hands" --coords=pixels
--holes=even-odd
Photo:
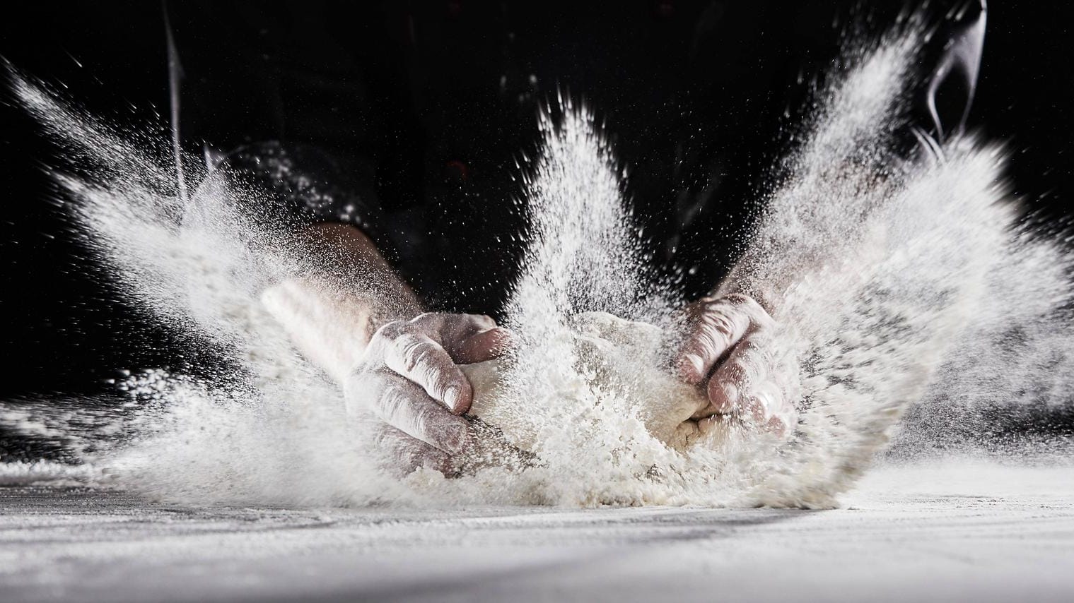
[[[661,368],[659,327],[606,312],[586,312],[574,317],[564,335],[570,340],[577,372],[567,376],[565,383],[626,400],[637,409],[645,429],[674,448],[685,448],[697,437],[697,424],[687,420],[708,406],[708,400],[700,388]],[[511,402],[504,361],[461,368],[474,386],[469,415],[499,428],[514,446],[534,452],[538,428],[525,409]],[[570,391],[555,395],[569,396]]]

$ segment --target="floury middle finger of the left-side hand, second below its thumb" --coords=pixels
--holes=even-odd
[[[373,409],[384,423],[446,453],[459,454],[466,447],[469,423],[448,412],[417,383],[396,374],[369,382]]]

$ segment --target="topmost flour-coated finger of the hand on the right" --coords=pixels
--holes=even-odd
[[[678,359],[680,376],[700,383],[716,362],[754,325],[770,321],[768,313],[745,295],[728,295],[706,304],[694,320]]]

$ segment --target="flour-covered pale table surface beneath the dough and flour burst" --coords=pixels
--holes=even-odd
[[[1074,600],[1074,468],[888,467],[831,511],[241,509],[0,487],[0,601]]]

